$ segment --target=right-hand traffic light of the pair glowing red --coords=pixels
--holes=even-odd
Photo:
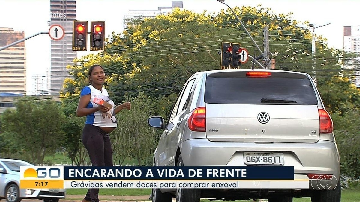
[[[91,21],[90,32],[90,50],[104,51],[105,22]]]

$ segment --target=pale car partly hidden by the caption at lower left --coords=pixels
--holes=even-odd
[[[21,199],[41,199],[58,202],[65,198],[66,189],[20,189],[20,166],[34,166],[26,161],[0,159],[0,199],[20,202]]]

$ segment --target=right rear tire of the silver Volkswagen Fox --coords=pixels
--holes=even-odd
[[[314,190],[311,202],[340,202],[341,201],[341,182],[337,183],[335,189]]]

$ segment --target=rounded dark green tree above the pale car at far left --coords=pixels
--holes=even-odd
[[[18,101],[16,110],[3,113],[2,128],[13,136],[24,159],[42,165],[44,157],[62,145],[64,120],[61,107],[54,101]]]

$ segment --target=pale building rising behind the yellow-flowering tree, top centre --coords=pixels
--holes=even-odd
[[[172,1],[171,6],[169,7],[158,7],[158,10],[129,10],[126,15],[124,15],[123,26],[124,29],[127,28],[127,23],[131,19],[143,19],[143,18],[154,18],[159,14],[168,14],[171,13],[173,8],[183,8],[182,1]]]

